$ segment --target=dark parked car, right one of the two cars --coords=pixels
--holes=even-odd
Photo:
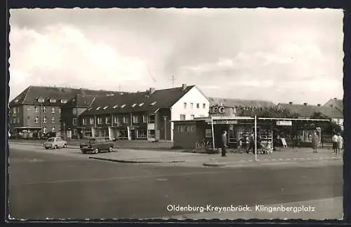
[[[88,142],[79,144],[82,153],[93,152],[99,153],[100,151],[111,152],[114,148],[114,142],[105,138],[91,138]]]

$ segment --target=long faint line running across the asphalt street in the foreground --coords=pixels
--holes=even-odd
[[[13,184],[11,186],[23,186],[23,185],[36,185],[36,184],[60,184],[60,183],[74,183],[74,182],[88,182],[88,181],[110,181],[110,180],[119,180],[119,179],[143,179],[143,178],[161,178],[161,177],[178,177],[178,176],[189,176],[189,175],[201,175],[201,174],[219,174],[225,171],[216,171],[216,172],[186,172],[180,174],[156,174],[150,176],[132,176],[132,177],[108,177],[108,178],[95,178],[95,179],[68,179],[60,181],[41,181],[41,182],[30,182],[30,183],[19,183]]]

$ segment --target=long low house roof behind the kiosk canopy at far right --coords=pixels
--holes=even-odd
[[[322,113],[330,118],[343,118],[343,113],[338,111],[338,109],[331,106],[313,106],[304,104],[277,104],[278,108],[286,108],[292,113],[300,114],[303,117],[310,117],[314,113]]]

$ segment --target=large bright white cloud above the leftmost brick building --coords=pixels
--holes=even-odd
[[[10,43],[12,96],[29,84],[86,88],[103,84],[117,90],[119,83],[139,81],[147,75],[143,59],[119,55],[116,48],[91,41],[70,25],[51,25],[40,32],[12,26]]]

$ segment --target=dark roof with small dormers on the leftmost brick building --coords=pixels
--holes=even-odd
[[[44,86],[32,86],[30,85],[27,89],[22,91],[20,95],[15,97],[10,103],[10,106],[18,104],[38,104],[37,99],[42,97],[45,99],[43,105],[55,105],[62,106],[65,103],[61,103],[60,100],[72,99],[75,95],[107,95],[110,93],[116,93],[116,91],[108,90],[88,90],[88,89],[77,89],[77,88],[60,88],[60,87],[44,87]],[[56,99],[55,103],[49,102],[49,98]],[[18,100],[18,102],[15,102]]]

